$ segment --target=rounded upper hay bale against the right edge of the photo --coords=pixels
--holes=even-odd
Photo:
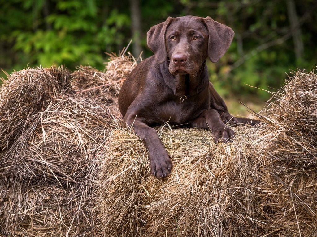
[[[317,76],[297,71],[263,111],[273,142],[268,155],[299,172],[317,168]]]

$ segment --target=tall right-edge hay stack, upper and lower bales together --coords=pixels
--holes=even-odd
[[[262,233],[317,234],[317,75],[297,71],[263,111],[268,131],[254,189]],[[262,161],[262,162],[261,162]]]

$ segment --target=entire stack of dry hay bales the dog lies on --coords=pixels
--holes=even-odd
[[[0,91],[0,236],[316,236],[317,76],[297,72],[232,143],[157,131],[174,168],[118,126],[117,94],[136,65],[35,68]]]

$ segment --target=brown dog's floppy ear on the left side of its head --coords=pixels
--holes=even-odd
[[[165,32],[172,17],[168,17],[166,21],[152,26],[147,32],[147,45],[155,54],[155,59],[160,64],[167,58],[166,44],[165,44]]]

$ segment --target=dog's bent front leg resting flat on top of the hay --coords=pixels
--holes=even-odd
[[[230,142],[231,139],[235,137],[235,132],[221,121],[220,115],[215,109],[205,110],[190,126],[210,129],[214,136],[215,143],[217,143],[219,139],[223,143]]]

